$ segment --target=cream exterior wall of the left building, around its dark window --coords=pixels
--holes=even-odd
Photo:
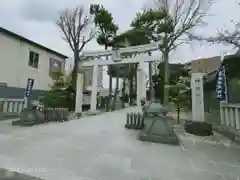
[[[30,50],[39,53],[38,69],[28,66]],[[63,58],[46,50],[0,33],[0,82],[6,82],[8,86],[25,88],[27,79],[33,78],[34,89],[47,90],[52,84],[49,76],[50,57],[65,63]]]

